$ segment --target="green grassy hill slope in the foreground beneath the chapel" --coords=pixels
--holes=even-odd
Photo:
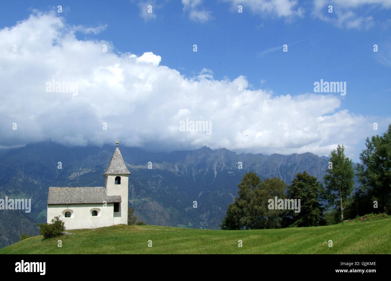
[[[34,236],[0,249],[0,254],[390,254],[390,229],[391,218],[232,231],[117,225],[70,230],[74,235],[45,240]],[[62,247],[57,247],[59,239]]]

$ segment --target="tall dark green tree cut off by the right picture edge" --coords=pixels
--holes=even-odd
[[[371,202],[378,201],[378,212],[391,209],[391,124],[382,136],[367,137],[357,165],[357,177],[361,188],[368,192]]]

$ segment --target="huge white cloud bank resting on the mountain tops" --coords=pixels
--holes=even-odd
[[[248,89],[244,76],[215,80],[206,68],[187,78],[160,65],[161,57],[152,52],[118,55],[109,51],[115,49],[109,42],[78,40],[63,21],[55,13],[35,14],[0,30],[0,146],[45,139],[101,145],[118,137],[122,145],[156,150],[207,145],[328,155],[338,143],[352,152],[374,134],[373,122],[380,127],[390,121],[341,110],[341,96],[335,94],[275,97]],[[77,82],[78,95],[47,93],[52,79]],[[212,134],[179,131],[186,118],[212,122]]]

